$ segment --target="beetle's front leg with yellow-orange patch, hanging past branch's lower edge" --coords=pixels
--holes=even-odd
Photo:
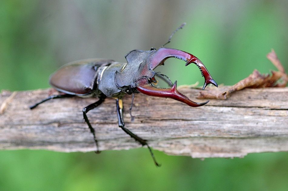
[[[116,107],[117,107],[117,117],[118,117],[118,126],[124,131],[126,132],[128,135],[130,135],[130,137],[134,138],[136,141],[138,141],[142,146],[147,145],[149,152],[152,156],[152,159],[155,163],[155,165],[157,167],[160,166],[160,164],[157,163],[155,156],[152,152],[152,149],[149,147],[149,145],[147,144],[147,141],[138,137],[137,135],[135,135],[134,133],[132,133],[131,131],[129,131],[129,129],[125,128],[125,124],[124,124],[124,120],[123,120],[123,103],[121,99],[116,99]]]

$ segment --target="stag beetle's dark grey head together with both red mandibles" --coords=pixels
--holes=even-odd
[[[120,72],[115,72],[115,83],[122,91],[132,94],[143,93],[156,97],[169,97],[191,107],[198,107],[205,105],[204,103],[196,103],[189,100],[188,97],[177,91],[177,81],[171,88],[156,88],[152,86],[151,82],[155,82],[155,72],[153,71],[157,66],[164,64],[165,60],[174,57],[186,62],[185,66],[194,63],[200,69],[202,76],[205,79],[203,90],[206,85],[213,84],[218,87],[217,83],[213,80],[203,63],[192,54],[186,53],[177,49],[160,48],[151,49],[150,51],[133,50],[126,55],[127,65]]]

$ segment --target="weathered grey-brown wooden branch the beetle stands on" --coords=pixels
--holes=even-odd
[[[179,88],[193,99],[198,89]],[[0,94],[0,149],[93,151],[95,143],[82,108],[96,98],[49,100],[34,110],[47,90]],[[172,99],[136,94],[131,123],[131,97],[124,101],[126,127],[154,149],[194,158],[243,157],[247,153],[288,151],[288,88],[244,89],[227,100],[210,100],[192,108]],[[87,114],[101,150],[141,147],[118,127],[113,99]]]

